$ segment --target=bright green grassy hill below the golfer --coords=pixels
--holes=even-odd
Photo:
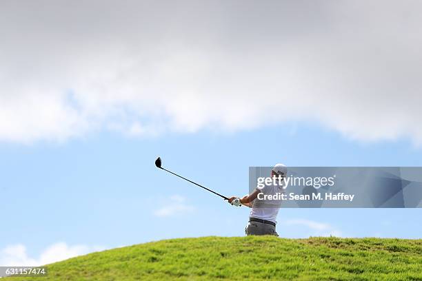
[[[422,240],[205,237],[71,258],[2,280],[422,280]]]

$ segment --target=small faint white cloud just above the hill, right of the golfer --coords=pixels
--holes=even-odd
[[[316,222],[314,220],[306,220],[302,218],[290,219],[281,222],[286,227],[299,226],[308,229],[308,236],[344,236],[341,231],[332,225],[324,222]]]

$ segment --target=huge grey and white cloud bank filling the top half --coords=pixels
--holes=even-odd
[[[422,143],[421,1],[41,2],[0,4],[0,141],[294,120]]]

